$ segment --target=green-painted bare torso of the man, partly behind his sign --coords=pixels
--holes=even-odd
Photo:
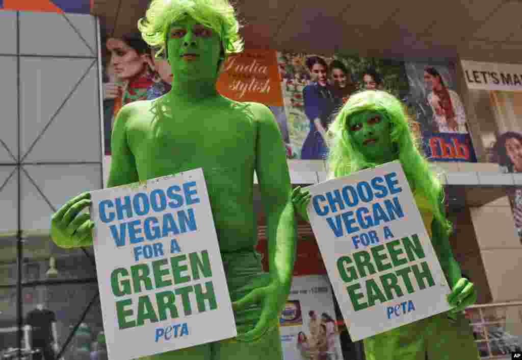
[[[256,104],[217,97],[190,109],[162,107],[159,116],[155,101],[131,104],[126,119],[139,180],[203,168],[221,251],[251,249]]]

